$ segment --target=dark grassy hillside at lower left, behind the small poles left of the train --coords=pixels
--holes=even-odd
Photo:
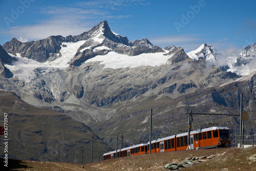
[[[8,155],[10,158],[55,161],[60,149],[59,161],[91,161],[92,130],[85,124],[76,122],[60,112],[33,107],[13,92],[0,91],[0,125],[4,125],[4,112],[8,113]],[[3,140],[4,137],[2,136]],[[98,150],[108,146],[95,136],[95,156]],[[0,144],[4,148],[4,144]],[[4,157],[3,150],[0,156]],[[95,158],[97,160],[97,157]]]

